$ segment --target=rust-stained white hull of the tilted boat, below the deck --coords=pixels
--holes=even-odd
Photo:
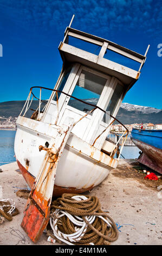
[[[40,145],[55,137],[57,127],[40,121],[18,117],[15,155],[18,166],[30,187],[33,186],[46,151]],[[115,159],[95,149],[71,133],[57,166],[54,195],[81,193],[99,185],[117,166]]]

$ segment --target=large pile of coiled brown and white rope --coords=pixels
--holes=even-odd
[[[109,245],[118,239],[118,228],[100,208],[95,196],[62,194],[51,203],[47,235],[68,245]]]

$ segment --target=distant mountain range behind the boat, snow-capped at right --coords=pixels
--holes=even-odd
[[[93,103],[96,105],[96,101],[98,99],[86,99],[85,101],[89,103]],[[79,109],[83,108],[83,103],[71,100],[70,105]],[[5,101],[0,102],[0,117],[18,117],[20,114],[25,101]],[[44,106],[44,103],[42,103]],[[32,102],[30,108],[36,109],[38,106],[38,101],[35,100]],[[42,106],[42,107],[43,107]],[[87,108],[89,107],[86,105]],[[91,109],[91,108],[90,108]],[[31,117],[33,111],[29,110],[27,117]],[[162,109],[147,107],[147,106],[139,106],[132,105],[129,103],[121,103],[120,109],[116,118],[121,121],[123,124],[134,124],[134,123],[153,123],[153,124],[161,124],[162,123]]]

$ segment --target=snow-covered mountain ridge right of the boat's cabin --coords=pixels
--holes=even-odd
[[[139,111],[139,112],[142,112],[143,114],[158,113],[162,110],[154,107],[145,107],[145,106],[133,105],[129,103],[121,103],[121,108],[124,108],[127,111]]]

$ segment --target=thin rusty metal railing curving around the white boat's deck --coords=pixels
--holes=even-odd
[[[40,98],[36,97],[36,96],[34,95],[34,93],[32,92],[32,90],[33,90],[34,88],[40,88]],[[36,120],[40,120],[40,113],[42,113],[42,112],[44,111],[44,109],[46,108],[46,106],[47,106],[47,102],[44,101],[44,100],[41,100],[42,89],[51,90],[52,92],[56,92],[57,117],[56,117],[56,120],[55,120],[55,125],[57,125],[57,121],[58,121],[58,119],[59,119],[59,97],[58,97],[58,93],[62,93],[62,94],[64,94],[64,95],[66,95],[66,96],[72,97],[74,100],[80,101],[80,102],[82,102],[82,103],[85,103],[85,104],[87,104],[87,105],[89,105],[89,106],[94,107],[91,111],[87,112],[87,113],[86,113],[85,115],[83,115],[79,120],[77,120],[77,121],[73,124],[73,126],[75,126],[75,125],[76,125],[79,121],[81,121],[83,118],[87,117],[88,114],[92,113],[92,112],[93,112],[95,109],[97,109],[97,108],[100,109],[100,110],[101,110],[102,112],[104,112],[105,114],[107,114],[107,112],[106,112],[105,110],[103,110],[102,108],[100,108],[99,106],[96,106],[96,105],[94,105],[94,104],[92,104],[92,103],[89,103],[89,102],[86,102],[86,101],[77,99],[76,97],[74,97],[74,96],[72,96],[72,95],[69,95],[69,94],[67,94],[67,93],[64,93],[64,92],[62,92],[62,91],[60,91],[60,90],[55,90],[55,89],[46,88],[46,87],[40,87],[40,86],[34,86],[34,87],[31,87],[31,88],[30,88],[29,95],[28,95],[28,97],[27,97],[27,100],[25,101],[25,104],[24,104],[24,106],[23,106],[23,109],[22,109],[20,115],[22,115],[23,117],[25,116],[25,114],[28,112],[28,110],[29,110],[29,108],[30,108],[30,106],[31,106],[31,103],[32,103],[32,101],[33,101],[33,99],[34,99],[34,97],[35,97],[35,99],[37,99],[37,100],[39,101],[39,104],[38,104],[38,107],[37,107],[36,110],[34,110],[34,109],[31,109],[31,110],[33,110],[33,111],[35,111],[35,113],[37,113],[35,119],[36,119]],[[33,95],[33,96],[32,96],[31,101],[30,101],[31,95]],[[29,102],[30,102],[30,103],[29,103]],[[42,102],[46,102],[46,105],[43,107],[43,109],[42,109],[42,111],[41,111],[41,103],[42,103]],[[26,108],[25,108],[25,107],[26,107]],[[25,111],[24,111],[24,109],[25,109]],[[24,111],[24,113],[23,113],[23,111]],[[22,114],[22,113],[23,113],[23,114]],[[124,133],[122,134],[122,136],[120,136],[119,139],[115,142],[114,148],[113,148],[113,150],[112,150],[110,156],[111,156],[111,157],[114,157],[114,155],[115,155],[115,153],[116,153],[116,150],[119,149],[119,142],[120,142],[120,140],[122,139],[122,141],[121,141],[120,154],[119,154],[119,156],[118,156],[118,159],[119,159],[119,158],[120,158],[120,155],[121,155],[122,148],[124,147],[126,138],[127,138],[127,136],[128,136],[128,129],[127,129],[127,128],[125,127],[125,125],[122,124],[118,119],[116,119],[115,117],[113,117],[113,115],[109,114],[109,116],[110,116],[111,118],[113,118],[113,120],[111,121],[111,123],[108,124],[108,126],[106,127],[106,129],[103,130],[103,131],[100,133],[100,135],[95,138],[95,140],[94,140],[92,146],[94,146],[94,144],[95,144],[96,141],[99,139],[99,137],[100,137],[100,136],[108,129],[108,127],[110,127],[110,126],[114,123],[114,121],[116,120],[116,121],[118,121],[119,124],[121,124],[121,125],[125,128],[125,132],[124,132]]]

